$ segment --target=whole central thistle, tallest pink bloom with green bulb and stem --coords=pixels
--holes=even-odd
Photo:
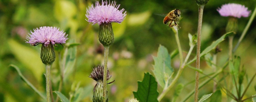
[[[93,24],[98,23],[100,25],[99,41],[104,46],[104,71],[103,71],[103,102],[107,100],[107,62],[108,62],[108,50],[109,46],[114,41],[114,33],[112,29],[112,22],[121,23],[125,16],[126,11],[124,9],[118,10],[120,4],[116,4],[116,1],[109,3],[102,0],[102,4],[95,3],[95,7],[89,7],[86,9],[85,16],[88,18],[86,21]],[[124,12],[124,13],[123,13]]]

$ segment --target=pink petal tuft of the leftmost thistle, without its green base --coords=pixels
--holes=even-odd
[[[68,40],[68,34],[64,31],[59,31],[59,28],[56,27],[44,26],[39,29],[34,29],[34,32],[30,32],[31,34],[27,36],[28,41],[26,41],[26,43],[33,46],[44,44],[44,46],[47,47],[49,44],[62,44],[66,43],[66,40]]]

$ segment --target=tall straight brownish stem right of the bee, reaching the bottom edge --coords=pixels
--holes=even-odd
[[[197,27],[197,47],[196,47],[196,68],[200,69],[200,49],[201,49],[201,30],[203,20],[204,5],[198,6],[198,27]],[[198,84],[199,84],[199,72],[196,71],[196,84],[195,84],[195,98],[194,101],[198,101]]]

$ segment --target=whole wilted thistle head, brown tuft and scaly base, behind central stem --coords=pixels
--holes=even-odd
[[[94,86],[93,89],[93,102],[102,102],[103,97],[103,69],[104,66],[96,66],[93,68],[92,73],[89,77],[91,77],[93,80],[97,81],[97,84]],[[109,74],[109,71],[107,70],[107,80],[111,78],[111,75]],[[108,102],[108,94],[106,95],[106,102]]]

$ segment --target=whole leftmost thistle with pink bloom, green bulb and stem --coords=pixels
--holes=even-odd
[[[27,36],[26,43],[30,45],[37,46],[42,44],[41,47],[41,60],[46,66],[46,100],[50,102],[50,72],[51,65],[55,61],[55,52],[53,46],[57,44],[66,43],[68,34],[64,31],[59,31],[59,28],[44,26],[39,29],[34,29],[34,32],[31,31],[31,34]]]

